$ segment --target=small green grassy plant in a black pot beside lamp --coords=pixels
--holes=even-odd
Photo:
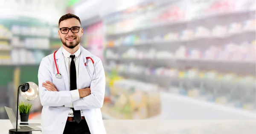
[[[29,121],[29,112],[32,109],[32,104],[21,101],[18,105],[20,111],[20,121],[28,122]]]

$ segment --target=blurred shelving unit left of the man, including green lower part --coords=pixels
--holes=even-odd
[[[11,90],[20,83],[38,82],[37,75],[41,58],[57,50],[56,46],[61,44],[58,33],[54,29],[56,26],[35,18],[17,17],[0,20],[1,87],[9,85],[6,90]],[[45,40],[48,45],[44,44]],[[8,94],[9,98],[15,98],[17,94],[15,92],[16,90],[13,94]],[[15,108],[15,102],[6,103],[6,106]]]

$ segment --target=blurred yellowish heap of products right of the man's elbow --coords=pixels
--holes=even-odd
[[[135,80],[115,80],[109,84],[111,102],[103,112],[117,119],[147,119],[160,114],[157,86]]]

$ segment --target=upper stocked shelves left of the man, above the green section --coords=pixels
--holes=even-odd
[[[0,48],[7,55],[9,53],[10,58],[9,61],[0,60],[0,65],[39,65],[39,60],[32,61],[32,63],[23,62],[23,54],[17,53],[20,51],[27,51],[26,55],[34,53],[35,56],[29,57],[30,60],[37,57],[37,52],[43,52],[42,55],[52,53],[57,48],[56,46],[61,46],[56,29],[58,29],[56,26],[34,18],[1,19],[0,41],[3,41],[3,38],[6,41],[0,42]]]

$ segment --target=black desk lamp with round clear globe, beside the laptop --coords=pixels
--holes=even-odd
[[[18,87],[17,93],[17,116],[16,116],[16,128],[10,129],[9,134],[32,134],[32,130],[18,129],[18,103],[19,103],[19,90],[20,94],[26,100],[34,100],[38,97],[39,89],[38,86],[33,82],[27,82]]]

